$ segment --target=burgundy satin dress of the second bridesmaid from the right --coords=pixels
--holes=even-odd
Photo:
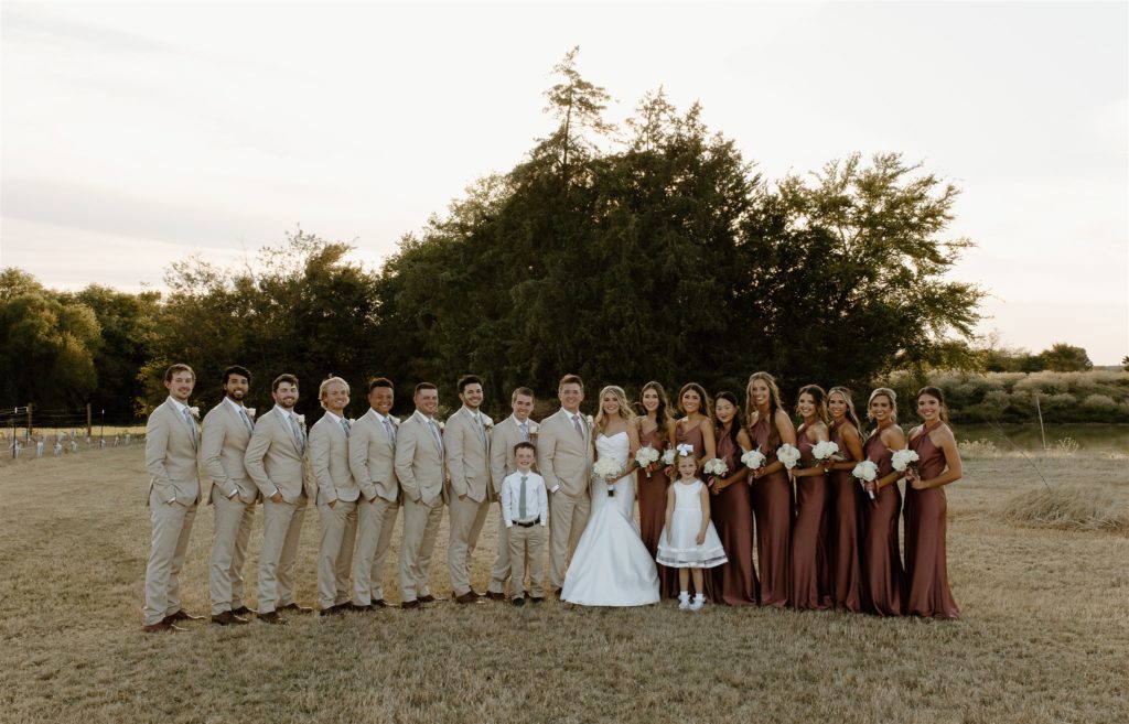
[[[894,470],[891,462],[894,453],[882,442],[882,430],[875,430],[864,448],[866,459],[878,466],[879,478]],[[876,501],[869,500],[867,497],[863,550],[869,610],[878,616],[901,616],[905,581],[898,554],[898,522],[902,493],[895,482],[878,491]]]

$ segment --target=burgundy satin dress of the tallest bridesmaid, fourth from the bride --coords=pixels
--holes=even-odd
[[[764,465],[777,461],[776,449],[769,448],[769,421],[758,420],[750,430],[753,444],[764,454]],[[777,445],[779,448],[779,444]],[[789,601],[791,582],[791,480],[781,468],[752,485],[753,515],[756,519],[756,568],[761,574],[761,606],[784,608]]]

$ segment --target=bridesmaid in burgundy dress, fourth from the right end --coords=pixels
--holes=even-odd
[[[828,474],[815,463],[812,448],[826,442],[828,396],[819,385],[799,388],[796,412],[804,421],[796,431],[799,465],[796,478],[796,526],[791,530],[791,604],[797,609],[831,608],[826,550]]]

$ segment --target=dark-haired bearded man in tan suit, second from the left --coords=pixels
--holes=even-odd
[[[224,370],[224,400],[204,415],[200,435],[200,463],[210,483],[207,498],[216,515],[208,566],[211,617],[220,626],[246,624],[244,616],[254,612],[243,604],[243,564],[259,501],[259,488],[243,466],[254,430],[254,410],[243,406],[250,389],[246,368]]]

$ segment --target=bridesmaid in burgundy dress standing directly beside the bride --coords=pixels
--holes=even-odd
[[[667,414],[669,404],[666,390],[658,382],[647,382],[639,395],[642,414],[636,417],[640,447],[650,445],[662,454],[674,445],[674,420]],[[671,480],[662,462],[653,462],[646,469],[636,471],[636,489],[639,491],[639,532],[642,542],[654,558],[658,553],[658,538],[666,522],[666,488]],[[657,565],[657,564],[656,564]],[[679,572],[658,566],[658,579],[663,582],[663,598],[679,594]]]

